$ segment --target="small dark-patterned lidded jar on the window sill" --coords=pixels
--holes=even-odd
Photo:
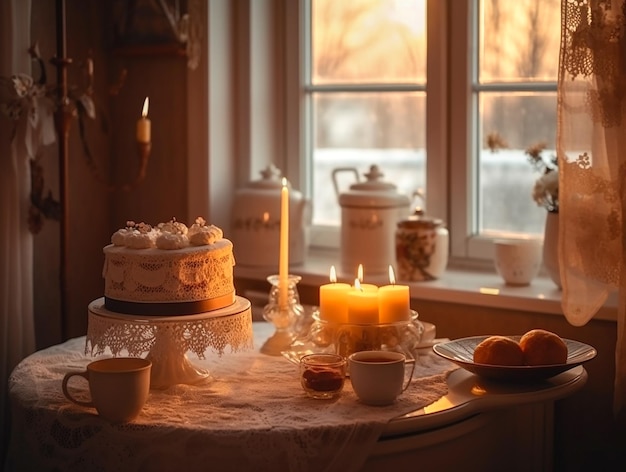
[[[398,280],[425,281],[441,277],[448,264],[448,239],[443,220],[421,212],[398,222]]]

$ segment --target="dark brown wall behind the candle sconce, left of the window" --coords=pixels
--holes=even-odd
[[[32,5],[32,38],[39,42],[48,70],[56,83],[56,70],[48,59],[56,54],[55,2]],[[96,121],[85,123],[89,149],[98,168],[97,178],[85,159],[78,121],[70,128],[68,165],[68,264],[66,316],[60,308],[60,225],[45,222],[35,237],[35,322],[37,347],[84,335],[87,305],[102,296],[102,248],[113,231],[129,219],[156,224],[187,215],[187,88],[183,56],[157,52],[128,54],[110,45],[108,2],[67,0],[68,83],[83,85],[81,69],[89,51],[95,62]],[[128,73],[119,94],[112,93],[121,69]],[[135,122],[143,100],[150,96],[152,151],[146,179],[131,191],[110,191],[133,182],[138,169]],[[59,196],[57,146],[42,158],[46,188]],[[66,322],[63,322],[67,320]]]

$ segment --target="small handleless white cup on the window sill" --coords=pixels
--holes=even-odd
[[[496,271],[507,285],[529,285],[539,274],[542,262],[541,239],[496,239]]]

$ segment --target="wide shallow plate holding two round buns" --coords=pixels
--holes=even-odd
[[[501,366],[477,364],[474,362],[474,349],[489,336],[472,336],[469,338],[455,339],[433,346],[433,351],[441,357],[454,362],[460,367],[481,377],[516,382],[544,380],[561,372],[576,367],[596,357],[596,350],[579,341],[563,339],[567,345],[567,361],[565,364],[541,365],[541,366]],[[521,336],[509,336],[519,341]]]

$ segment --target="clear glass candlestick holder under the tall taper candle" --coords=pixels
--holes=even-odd
[[[280,304],[280,277],[270,275],[267,281],[272,284],[269,303],[263,308],[263,318],[276,327],[274,334],[261,347],[261,352],[270,356],[280,356],[289,346],[300,330],[304,320],[304,307],[300,304],[298,282],[302,277],[289,275],[287,278],[287,303]]]

